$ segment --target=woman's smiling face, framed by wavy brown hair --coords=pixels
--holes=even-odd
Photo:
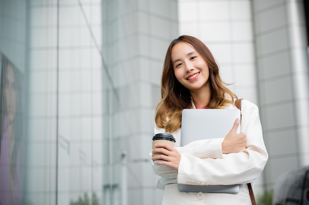
[[[172,49],[172,65],[177,80],[189,91],[210,91],[207,63],[190,44],[179,42]]]

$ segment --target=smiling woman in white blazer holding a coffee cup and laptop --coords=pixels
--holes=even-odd
[[[150,152],[154,173],[161,176],[157,186],[164,190],[162,205],[250,205],[246,184],[261,175],[268,160],[258,107],[242,100],[240,133],[235,131],[240,123],[236,119],[225,138],[181,147],[183,109],[237,109],[237,96],[225,87],[207,46],[193,36],[180,36],[169,45],[161,85],[154,134],[169,133],[176,139],[175,146],[157,143]],[[178,184],[240,184],[240,190],[236,194],[183,192]]]

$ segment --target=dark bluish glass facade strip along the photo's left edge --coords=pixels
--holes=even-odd
[[[26,178],[26,13],[0,1],[0,205],[22,203]]]

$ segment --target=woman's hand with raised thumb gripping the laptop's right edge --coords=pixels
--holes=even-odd
[[[222,153],[237,153],[247,146],[247,138],[245,133],[236,133],[237,127],[240,123],[239,118],[234,122],[234,125],[228,135],[224,138],[222,142]]]

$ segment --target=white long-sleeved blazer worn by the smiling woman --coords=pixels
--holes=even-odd
[[[237,109],[231,104],[228,109]],[[250,205],[246,183],[261,175],[268,153],[263,140],[258,107],[248,100],[241,101],[240,132],[246,134],[247,148],[238,153],[222,154],[224,138],[200,140],[180,147],[181,129],[172,134],[181,154],[178,172],[168,166],[151,164],[161,176],[157,187],[164,189],[162,205]],[[154,134],[165,133],[155,126]],[[150,158],[152,152],[149,153]],[[179,192],[177,183],[196,185],[241,184],[237,194]]]

